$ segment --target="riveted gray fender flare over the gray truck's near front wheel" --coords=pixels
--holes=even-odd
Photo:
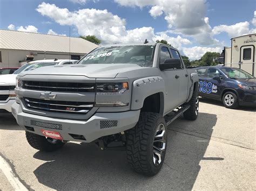
[[[135,80],[132,84],[132,98],[131,98],[131,110],[138,110],[143,108],[144,100],[150,95],[162,93],[160,97],[162,107],[164,105],[164,93],[165,82],[160,76],[144,77],[142,79]]]

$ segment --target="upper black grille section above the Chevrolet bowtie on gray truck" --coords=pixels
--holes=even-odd
[[[95,83],[23,81],[23,88],[42,91],[94,92]]]

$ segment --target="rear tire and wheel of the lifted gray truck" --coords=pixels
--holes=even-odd
[[[197,119],[198,112],[199,112],[199,97],[198,97],[198,90],[194,90],[190,101],[190,108],[186,110],[183,114],[185,119],[190,121],[194,121]]]

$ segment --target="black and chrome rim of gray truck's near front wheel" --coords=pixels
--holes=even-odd
[[[163,123],[157,126],[156,135],[153,142],[153,162],[154,165],[159,165],[164,156],[166,145],[166,128]]]

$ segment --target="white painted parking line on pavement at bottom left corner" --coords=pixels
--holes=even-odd
[[[15,190],[28,190],[21,181],[15,176],[8,162],[0,155],[0,169],[3,171],[4,175],[10,182],[11,186]]]

